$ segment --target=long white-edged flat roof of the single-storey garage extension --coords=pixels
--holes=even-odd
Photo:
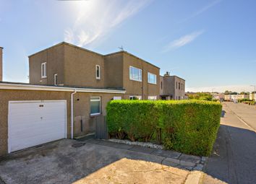
[[[28,84],[20,82],[0,82],[0,89],[20,89],[20,90],[41,90],[41,91],[64,91],[64,92],[100,92],[100,93],[121,93],[126,92],[121,88],[92,88],[92,87],[70,87],[41,84]]]

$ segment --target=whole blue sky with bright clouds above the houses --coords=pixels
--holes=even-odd
[[[61,41],[125,51],[186,79],[186,91],[252,91],[255,0],[0,0],[4,81],[28,82],[28,58]]]

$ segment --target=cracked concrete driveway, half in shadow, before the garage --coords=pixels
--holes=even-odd
[[[63,139],[10,154],[0,161],[0,183],[184,183],[189,175],[158,155],[81,143]]]

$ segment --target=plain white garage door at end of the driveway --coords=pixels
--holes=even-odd
[[[66,138],[66,100],[10,101],[8,152]]]

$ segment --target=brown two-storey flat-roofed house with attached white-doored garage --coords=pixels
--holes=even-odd
[[[95,132],[113,99],[159,99],[159,68],[59,43],[29,56],[30,83],[0,82],[0,156]]]

